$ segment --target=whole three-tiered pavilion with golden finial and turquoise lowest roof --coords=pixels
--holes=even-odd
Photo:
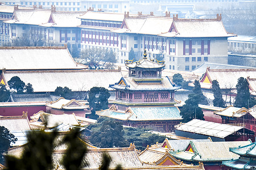
[[[174,100],[174,91],[178,89],[168,77],[162,77],[164,61],[152,61],[147,58],[134,62],[126,61],[129,75],[119,82],[110,84],[115,89],[114,104],[98,116],[122,120],[124,125],[151,128],[170,132],[182,120]]]

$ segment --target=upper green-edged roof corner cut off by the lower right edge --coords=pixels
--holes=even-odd
[[[229,150],[238,155],[256,156],[255,146],[256,146],[256,142],[250,143],[249,145],[246,145],[246,146],[233,147],[233,148],[230,148]]]

